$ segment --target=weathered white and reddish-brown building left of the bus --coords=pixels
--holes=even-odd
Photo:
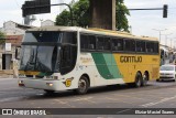
[[[1,32],[6,34],[6,39],[0,42],[0,74],[12,75],[14,71],[15,49],[21,45],[25,30],[32,26],[8,21],[3,23]]]

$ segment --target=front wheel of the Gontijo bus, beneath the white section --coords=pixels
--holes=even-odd
[[[89,82],[88,78],[85,76],[81,76],[78,82],[78,88],[75,90],[77,94],[86,94],[89,88]]]

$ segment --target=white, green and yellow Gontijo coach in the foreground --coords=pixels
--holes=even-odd
[[[26,31],[21,45],[19,86],[46,93],[129,84],[158,78],[157,39],[130,33],[46,26]]]

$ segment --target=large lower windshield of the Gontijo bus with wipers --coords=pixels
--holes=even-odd
[[[20,69],[58,72],[59,46],[23,45]]]

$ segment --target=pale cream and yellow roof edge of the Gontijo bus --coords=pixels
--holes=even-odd
[[[78,26],[42,26],[42,28],[29,29],[28,31],[80,31],[82,33],[92,33],[92,34],[128,37],[128,39],[158,41],[158,39],[156,39],[156,37],[136,36],[136,35],[132,35],[131,33],[128,33],[128,32],[103,30],[103,29],[97,29],[97,28],[84,29],[84,28],[78,28]]]

